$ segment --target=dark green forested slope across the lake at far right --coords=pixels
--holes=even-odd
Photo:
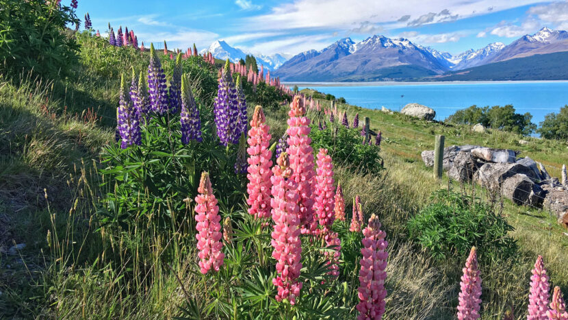
[[[433,81],[565,80],[568,52],[537,54],[430,77]]]

